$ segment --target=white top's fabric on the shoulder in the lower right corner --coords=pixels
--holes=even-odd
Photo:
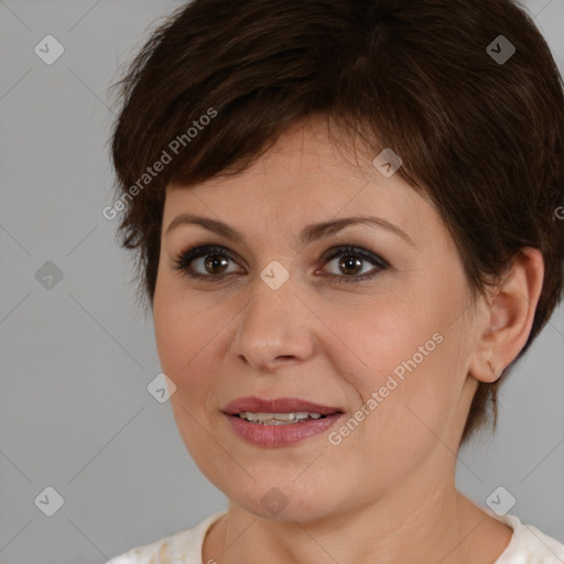
[[[562,564],[564,544],[517,516],[498,517],[513,529],[513,536],[495,564]]]

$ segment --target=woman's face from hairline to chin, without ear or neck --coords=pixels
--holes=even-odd
[[[378,219],[330,227],[350,217]],[[203,246],[216,249],[174,268]],[[153,314],[174,416],[200,470],[256,516],[315,519],[401,484],[415,497],[452,485],[473,312],[435,208],[371,160],[354,169],[322,120],[238,177],[167,187]]]

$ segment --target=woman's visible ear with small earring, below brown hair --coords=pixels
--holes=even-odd
[[[479,324],[481,334],[469,366],[476,380],[496,381],[524,347],[543,279],[541,251],[529,247],[521,249],[480,313],[484,317],[484,323]]]

